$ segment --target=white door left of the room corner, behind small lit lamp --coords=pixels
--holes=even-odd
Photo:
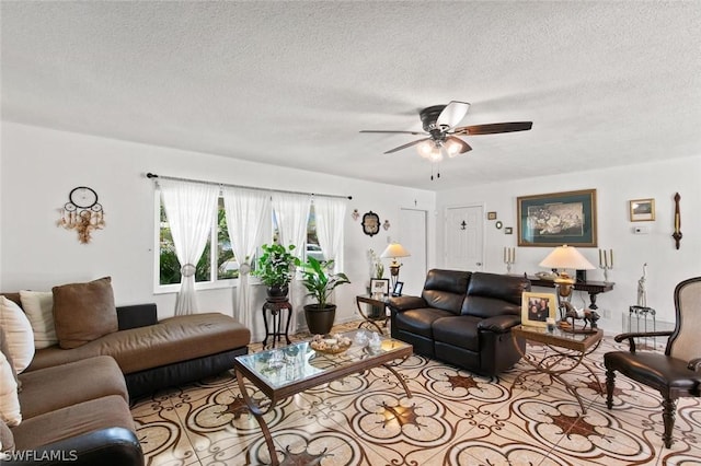
[[[401,259],[399,281],[404,282],[402,294],[421,295],[426,281],[427,219],[425,210],[400,209],[399,242],[411,254]]]

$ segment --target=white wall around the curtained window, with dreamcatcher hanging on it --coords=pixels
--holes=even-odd
[[[353,196],[345,225],[345,267],[350,286],[338,289],[337,322],[356,316],[355,295],[370,278],[368,248],[382,251],[399,236],[401,207],[435,210],[435,194],[338,176],[284,168],[210,154],[146,145],[3,123],[0,177],[0,283],[3,291],[49,290],[53,286],[113,278],[117,304],[156,302],[159,316],[172,315],[175,294],[154,294],[153,183],[147,172],[219,183]],[[333,154],[329,154],[333,156]],[[106,228],[80,244],[74,231],[56,226],[58,209],[76,186],[100,196]],[[360,220],[372,210],[394,225],[369,237]],[[430,215],[433,217],[433,215]],[[433,224],[428,243],[435,244]],[[433,263],[435,248],[428,252]],[[262,288],[262,287],[261,287]],[[200,311],[233,312],[233,290],[200,291]],[[258,290],[262,304],[264,292]],[[255,311],[260,314],[260,305]],[[262,322],[262,319],[261,319]],[[299,322],[303,325],[304,319]],[[256,329],[258,334],[258,329]],[[256,335],[256,338],[257,335]]]

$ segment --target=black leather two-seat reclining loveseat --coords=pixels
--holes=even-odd
[[[421,296],[391,298],[391,335],[414,352],[495,375],[520,359],[510,328],[520,324],[526,278],[433,269]],[[517,345],[525,350],[526,342]]]

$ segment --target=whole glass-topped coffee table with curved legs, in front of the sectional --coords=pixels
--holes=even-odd
[[[345,377],[346,375],[364,372],[368,369],[383,366],[400,382],[406,396],[412,393],[404,378],[394,370],[406,358],[412,356],[413,347],[404,341],[380,337],[379,348],[371,350],[369,345],[358,345],[353,330],[342,334],[350,338],[353,345],[342,353],[330,354],[318,352],[310,346],[310,341],[292,343],[287,347],[271,349],[252,354],[239,356],[233,360],[233,369],[241,395],[249,410],[255,417],[274,465],[278,464],[275,445],[271,431],[263,416],[275,405],[291,395],[306,389],[323,385]],[[374,334],[378,335],[378,334]],[[397,361],[400,360],[400,361]],[[255,385],[271,403],[265,407],[258,405],[246,392],[243,377]]]

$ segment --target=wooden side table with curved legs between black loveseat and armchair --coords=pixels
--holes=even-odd
[[[560,328],[555,328],[554,331],[550,333],[545,328],[541,327],[517,325],[516,327],[512,328],[512,338],[514,340],[514,346],[521,354],[522,360],[530,364],[533,369],[518,374],[518,376],[514,378],[514,382],[512,383],[512,391],[514,389],[514,385],[516,385],[519,380],[522,380],[528,374],[548,374],[551,380],[554,378],[565,386],[567,392],[570,392],[576,398],[579,407],[582,408],[582,413],[585,415],[587,410],[584,407],[582,397],[577,393],[576,388],[567,381],[565,381],[562,375],[566,372],[572,371],[578,365],[583,365],[589,372],[593,380],[599,385],[599,393],[605,393],[601,389],[601,383],[599,382],[599,377],[596,375],[596,372],[594,372],[589,364],[584,362],[584,358],[594,352],[599,347],[602,337],[604,330],[601,330],[600,328],[597,328],[596,333],[594,334],[571,334],[568,331],[561,330]],[[520,347],[518,346],[517,338],[524,338],[526,340],[545,345],[552,350],[552,352],[543,356],[540,361],[531,361],[530,359],[526,358],[525,352],[521,351]]]

